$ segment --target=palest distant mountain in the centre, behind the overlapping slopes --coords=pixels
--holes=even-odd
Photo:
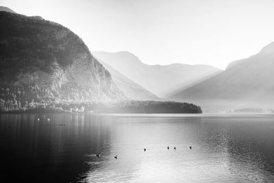
[[[159,97],[165,97],[174,90],[220,72],[219,69],[207,65],[148,65],[127,51],[93,51],[92,54]]]

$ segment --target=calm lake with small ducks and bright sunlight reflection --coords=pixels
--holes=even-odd
[[[274,182],[273,114],[0,119],[1,178],[10,182]]]

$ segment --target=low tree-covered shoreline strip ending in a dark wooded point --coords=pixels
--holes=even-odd
[[[202,113],[201,107],[192,103],[175,101],[123,101],[117,103],[37,103],[5,102],[0,99],[1,113]]]

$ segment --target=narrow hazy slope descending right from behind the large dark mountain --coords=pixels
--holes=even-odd
[[[125,97],[127,97],[128,99],[155,101],[162,100],[145,88],[142,88],[142,86],[136,84],[135,82],[132,82],[132,80],[129,80],[127,77],[125,77],[125,75],[113,69],[112,66],[105,64],[105,62],[102,62],[101,60],[99,60],[99,62],[103,64],[105,69],[108,69],[116,86],[118,86],[118,88],[123,91]]]

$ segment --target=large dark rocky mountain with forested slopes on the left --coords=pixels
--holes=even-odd
[[[110,73],[68,28],[0,12],[0,108],[125,99]]]

